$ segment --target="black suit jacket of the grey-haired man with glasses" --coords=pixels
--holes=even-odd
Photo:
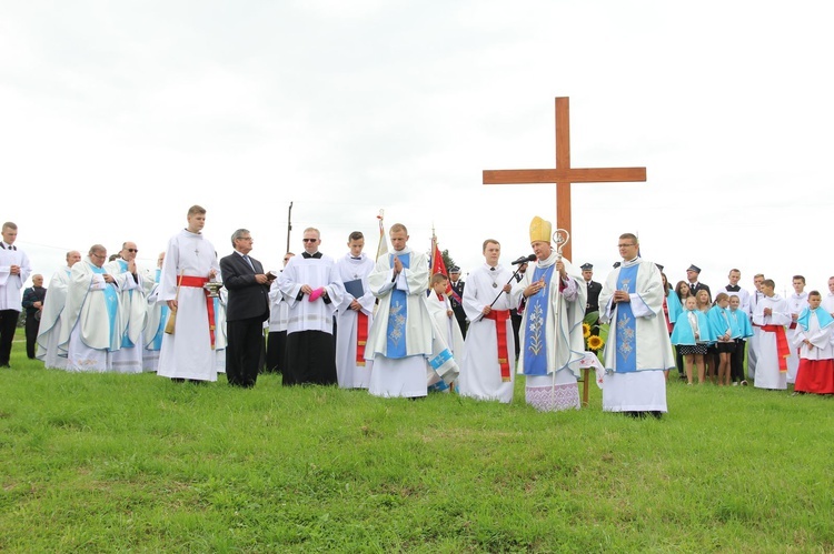
[[[269,319],[269,284],[259,284],[255,280],[256,274],[264,273],[264,266],[252,256],[249,260],[255,270],[237,252],[220,260],[220,275],[224,286],[229,291],[226,321]]]

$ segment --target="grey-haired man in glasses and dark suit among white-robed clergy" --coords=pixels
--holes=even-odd
[[[235,252],[220,260],[220,275],[229,291],[226,306],[226,377],[232,386],[255,386],[264,349],[264,322],[269,318],[269,284],[258,260],[249,258],[252,236],[246,229],[231,235]]]

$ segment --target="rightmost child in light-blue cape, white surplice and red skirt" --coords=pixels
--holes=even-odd
[[[808,305],[797,319],[794,347],[800,350],[795,393],[834,394],[834,318],[820,308],[818,291],[808,293]]]

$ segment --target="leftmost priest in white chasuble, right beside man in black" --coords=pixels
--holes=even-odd
[[[61,312],[67,305],[72,265],[81,261],[81,252],[67,252],[67,265],[56,271],[49,281],[47,298],[43,299],[43,311],[38,329],[38,350],[34,357],[43,362],[49,370],[66,370],[67,356],[58,355],[58,340],[61,334]]]

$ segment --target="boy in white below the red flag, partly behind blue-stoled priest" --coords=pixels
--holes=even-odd
[[[443,273],[435,273],[431,275],[431,286],[426,296],[426,306],[428,313],[431,314],[434,330],[431,331],[435,338],[434,342],[438,345],[433,344],[433,351],[437,347],[448,350],[451,354],[449,364],[454,363],[455,367],[450,371],[444,372],[443,376],[437,372],[430,372],[429,375],[429,391],[449,392],[457,387],[458,375],[460,373],[457,361],[463,361],[466,355],[466,346],[464,343],[464,334],[460,328],[459,320],[455,313],[454,305],[449,294],[453,289],[449,284],[449,278]],[[463,299],[461,299],[463,300]],[[436,377],[440,377],[439,380]]]

